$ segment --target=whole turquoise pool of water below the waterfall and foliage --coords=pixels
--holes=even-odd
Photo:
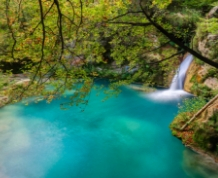
[[[60,110],[67,97],[2,108],[0,177],[218,177],[171,135],[177,101],[152,101],[127,87],[103,98],[93,90],[85,108]]]

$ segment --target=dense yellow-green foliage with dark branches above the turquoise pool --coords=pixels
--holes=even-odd
[[[24,73],[31,79],[7,88],[11,101],[39,94],[50,101],[66,89],[75,89],[70,104],[82,102],[96,78],[111,79],[115,90],[133,81],[163,85],[180,62],[177,56],[185,52],[218,67],[216,54],[204,56],[191,46],[196,27],[202,26],[201,18],[216,5],[214,0],[1,3],[1,78]],[[216,31],[216,20],[210,21],[197,34]],[[0,86],[8,83],[2,80]],[[53,90],[45,90],[48,84]]]

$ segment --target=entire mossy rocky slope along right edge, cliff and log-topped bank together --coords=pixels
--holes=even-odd
[[[207,17],[197,24],[193,40],[196,51],[216,62],[218,62],[217,11],[218,7],[214,7]],[[218,162],[218,69],[194,59],[186,75],[184,90],[213,100],[205,107],[199,108],[198,112],[177,115],[170,125],[173,135],[181,139],[186,146]]]

